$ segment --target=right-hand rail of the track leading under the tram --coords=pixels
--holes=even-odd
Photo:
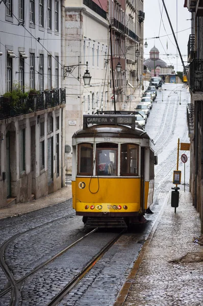
[[[88,271],[99,261],[100,258],[104,256],[104,254],[110,249],[110,247],[122,236],[122,234],[126,231],[124,229],[117,237],[113,238],[97,255],[94,257],[89,264],[81,271],[77,276],[73,278],[73,280],[67,284],[59,294],[57,294],[52,301],[50,301],[46,306],[56,306],[65,295],[67,295],[71,289],[77,285],[80,280],[88,273]]]

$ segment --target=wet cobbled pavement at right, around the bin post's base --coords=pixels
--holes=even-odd
[[[171,197],[144,243],[114,306],[202,306],[203,236],[189,191]]]

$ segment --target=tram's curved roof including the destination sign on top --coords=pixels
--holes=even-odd
[[[135,124],[135,115],[84,115],[83,129],[74,133],[76,137],[122,137],[146,138],[148,134]]]

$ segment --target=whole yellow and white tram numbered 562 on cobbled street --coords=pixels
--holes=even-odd
[[[84,115],[72,136],[72,203],[86,227],[143,221],[153,202],[153,146],[134,112]]]

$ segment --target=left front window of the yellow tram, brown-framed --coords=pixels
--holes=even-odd
[[[93,144],[78,145],[78,174],[92,175],[93,170]]]

